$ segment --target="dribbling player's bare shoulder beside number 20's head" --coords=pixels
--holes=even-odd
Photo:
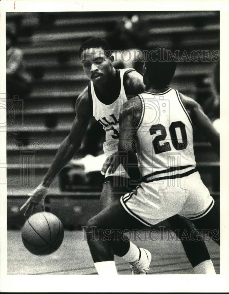
[[[145,85],[143,83],[142,74],[135,70],[129,71],[124,81],[124,87],[126,94],[130,96],[135,96],[138,93],[143,92]]]

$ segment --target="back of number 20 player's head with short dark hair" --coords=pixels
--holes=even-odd
[[[164,48],[164,49],[161,49]],[[176,70],[176,60],[168,54],[170,49],[157,47],[147,52],[145,66],[149,80],[158,87],[170,84]]]

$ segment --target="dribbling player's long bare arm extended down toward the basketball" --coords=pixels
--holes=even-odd
[[[75,111],[76,116],[70,134],[61,143],[43,182],[29,195],[30,198],[20,209],[27,208],[25,216],[44,210],[44,198],[48,193],[48,187],[81,146],[90,118],[87,88],[77,98]]]

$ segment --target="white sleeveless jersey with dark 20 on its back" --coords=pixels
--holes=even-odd
[[[146,181],[177,173],[188,173],[196,166],[192,122],[179,92],[144,92],[142,116],[137,130],[139,168]]]

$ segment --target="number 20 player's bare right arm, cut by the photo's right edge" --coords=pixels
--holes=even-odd
[[[181,101],[183,102],[188,114],[192,120],[194,126],[206,136],[208,141],[211,143],[217,155],[220,155],[220,135],[218,131],[213,127],[210,119],[204,113],[202,107],[192,98],[180,94]]]

